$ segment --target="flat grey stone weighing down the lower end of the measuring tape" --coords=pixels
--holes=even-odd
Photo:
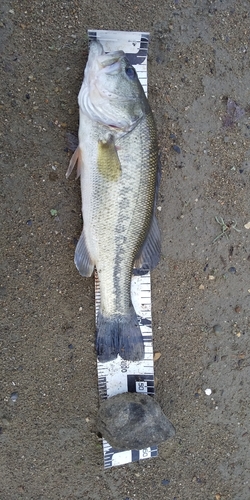
[[[152,396],[125,392],[100,405],[97,429],[119,450],[140,450],[175,435],[175,429]]]

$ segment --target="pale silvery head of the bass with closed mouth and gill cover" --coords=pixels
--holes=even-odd
[[[105,53],[92,41],[78,96],[80,110],[102,125],[128,132],[145,112],[146,97],[124,52]]]

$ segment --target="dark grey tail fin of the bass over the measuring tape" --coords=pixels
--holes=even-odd
[[[133,307],[126,316],[105,317],[99,313],[96,350],[102,363],[115,359],[118,354],[128,361],[144,358],[143,338]]]

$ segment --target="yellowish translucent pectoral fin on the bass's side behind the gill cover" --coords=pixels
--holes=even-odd
[[[98,142],[97,165],[100,174],[108,181],[117,181],[121,175],[121,163],[111,136],[107,141]]]

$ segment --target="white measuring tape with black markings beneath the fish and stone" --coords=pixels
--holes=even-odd
[[[123,50],[135,67],[140,82],[147,95],[147,55],[149,33],[128,31],[88,30],[89,40],[100,40],[105,52]],[[110,398],[123,392],[154,394],[154,362],[151,317],[150,273],[133,276],[131,298],[141,328],[145,356],[141,361],[125,361],[120,356],[107,363],[97,361],[98,388],[101,399]],[[100,289],[95,273],[96,316],[100,307]],[[157,446],[143,450],[119,451],[103,439],[104,468],[124,465],[144,458],[156,457]]]

